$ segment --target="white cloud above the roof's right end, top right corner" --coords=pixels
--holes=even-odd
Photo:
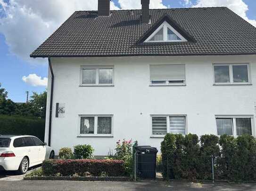
[[[256,20],[249,19],[246,15],[248,5],[243,0],[197,0],[192,7],[228,7],[237,15],[256,26]]]

